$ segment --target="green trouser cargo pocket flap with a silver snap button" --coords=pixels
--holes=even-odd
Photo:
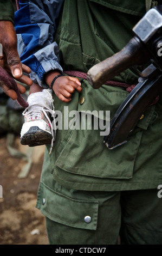
[[[40,183],[36,207],[51,221],[74,228],[96,230],[98,204],[94,200],[69,198]]]

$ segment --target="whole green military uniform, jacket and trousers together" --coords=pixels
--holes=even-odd
[[[87,72],[121,50],[145,12],[144,0],[66,0],[56,35],[63,69]],[[138,72],[130,68],[114,80],[137,83]],[[75,92],[70,103],[54,96],[55,109],[63,115],[68,106],[80,115],[108,110],[112,118],[128,95],[124,88],[103,85],[94,90],[87,80],[80,81],[82,92]],[[99,130],[57,130],[53,151],[49,155],[47,147],[44,157],[37,202],[47,217],[51,243],[115,243],[120,227],[125,243],[162,241],[157,197],[162,183],[161,111],[160,95],[129,142],[113,150],[105,147]]]

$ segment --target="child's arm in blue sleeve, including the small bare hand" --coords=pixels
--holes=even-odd
[[[30,78],[33,86],[30,93],[37,92],[51,85],[54,77],[62,74],[59,64],[59,48],[54,41],[57,21],[63,0],[20,0],[20,9],[15,13],[15,29],[18,37],[18,50],[22,63],[31,69]],[[56,71],[57,70],[57,71]],[[81,92],[77,78],[58,77],[53,90],[64,102],[71,100],[75,89]]]

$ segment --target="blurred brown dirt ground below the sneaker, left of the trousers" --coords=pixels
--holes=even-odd
[[[11,155],[7,145],[8,136],[1,137],[0,245],[48,245],[45,218],[35,208],[45,146],[32,148],[33,162],[24,175],[22,168],[28,162]],[[19,136],[12,148],[23,154],[32,150],[20,144]]]

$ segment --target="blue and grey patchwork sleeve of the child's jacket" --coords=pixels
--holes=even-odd
[[[60,70],[59,48],[54,41],[64,0],[20,0],[15,12],[17,48],[21,62],[31,69],[30,78],[47,88],[44,74]]]

